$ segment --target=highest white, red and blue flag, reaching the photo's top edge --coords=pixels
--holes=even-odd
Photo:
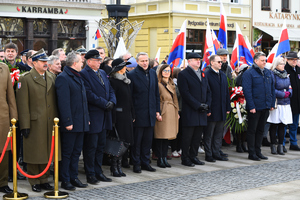
[[[221,43],[221,48],[227,49],[227,17],[222,1],[220,1],[220,4],[220,28],[218,40]]]

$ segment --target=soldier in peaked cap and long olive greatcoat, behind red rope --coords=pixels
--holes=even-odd
[[[31,175],[41,173],[51,151],[53,119],[58,116],[55,76],[47,71],[44,49],[31,56],[34,68],[20,76],[17,87],[19,124],[24,136],[24,161]],[[60,160],[60,152],[59,152]],[[28,179],[32,190],[53,190],[48,183],[49,170],[40,178]]]

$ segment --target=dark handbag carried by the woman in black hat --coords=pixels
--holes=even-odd
[[[113,126],[113,131],[115,132],[116,137],[108,136],[106,138],[106,146],[104,152],[112,156],[121,157],[128,149],[129,143],[120,140],[118,131],[115,126]]]

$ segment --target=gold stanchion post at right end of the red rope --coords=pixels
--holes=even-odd
[[[69,196],[67,192],[61,192],[58,190],[58,118],[54,118],[54,135],[55,135],[55,143],[54,143],[54,191],[46,192],[44,194],[45,198],[48,199],[64,199]],[[53,134],[53,132],[52,132]]]

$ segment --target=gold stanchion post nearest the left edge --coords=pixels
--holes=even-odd
[[[13,193],[10,194],[5,194],[3,195],[3,199],[27,199],[28,198],[28,194],[25,193],[18,193],[18,188],[17,188],[17,139],[16,139],[16,123],[17,120],[15,118],[13,118],[11,120],[12,123],[12,134],[13,134]]]

